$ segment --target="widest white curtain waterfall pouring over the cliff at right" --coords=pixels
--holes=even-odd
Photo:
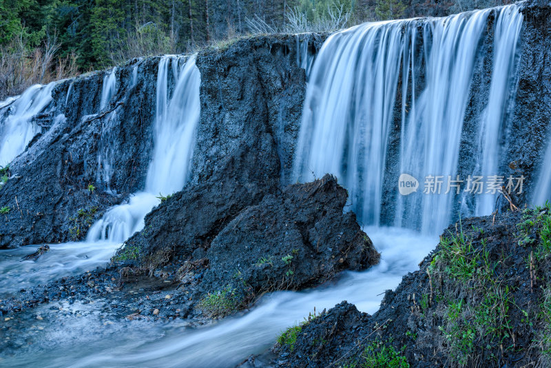
[[[492,12],[493,71],[479,122],[486,137],[479,167],[485,174],[497,170],[497,130],[513,89],[509,75],[522,21],[517,6],[365,23],[331,35],[309,78],[294,178],[335,174],[365,224],[424,232],[446,227],[455,189],[444,194],[442,185],[441,194],[424,194],[424,180],[457,178],[471,81]],[[397,194],[397,171],[417,178],[417,192]],[[477,210],[488,214],[486,203]]]

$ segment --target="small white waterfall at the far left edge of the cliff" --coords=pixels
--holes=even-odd
[[[8,165],[25,150],[41,127],[33,122],[52,101],[56,82],[33,85],[17,98],[1,103],[0,108],[0,166]]]

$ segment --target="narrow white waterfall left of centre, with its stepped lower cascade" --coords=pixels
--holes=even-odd
[[[158,66],[153,158],[147,170],[145,190],[113,207],[90,228],[89,242],[108,240],[121,243],[143,228],[143,218],[160,202],[157,196],[181,190],[189,177],[196,127],[199,121],[200,72],[196,56],[165,56]],[[169,98],[168,73],[176,78]]]

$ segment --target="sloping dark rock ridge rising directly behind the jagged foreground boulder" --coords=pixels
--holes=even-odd
[[[251,126],[239,152],[225,159],[214,175],[189,185],[152,210],[144,229],[126,242],[141,249],[152,267],[165,263],[164,254],[186,259],[207,249],[220,229],[245,207],[256,204],[279,184],[279,161],[272,136]]]

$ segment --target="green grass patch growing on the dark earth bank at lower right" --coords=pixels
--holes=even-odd
[[[511,336],[510,308],[516,305],[508,280],[497,271],[505,255],[492,262],[484,238],[475,246],[472,235],[464,232],[459,221],[457,233],[441,238],[440,247],[428,274],[456,283],[435,296],[445,306],[439,311],[439,330],[450,360],[465,366],[477,345],[503,347],[504,340]]]

